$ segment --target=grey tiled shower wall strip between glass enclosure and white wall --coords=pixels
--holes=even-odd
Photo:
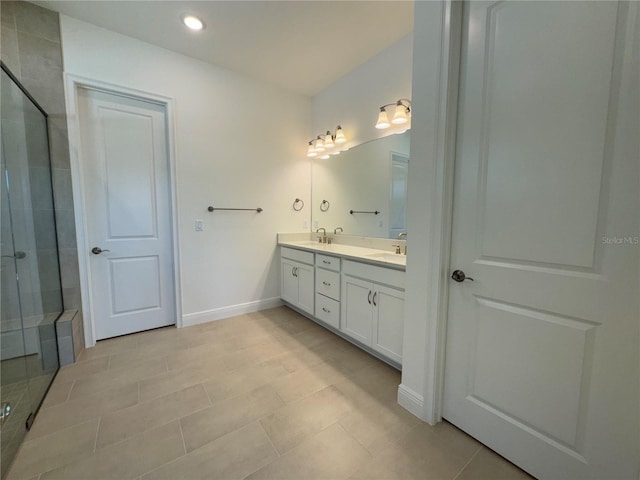
[[[67,337],[65,343],[69,344],[71,341],[74,346],[73,351],[69,353],[69,349],[65,349],[67,353],[61,352],[62,363],[65,364],[73,362],[84,346],[84,332],[65,114],[60,23],[57,13],[27,2],[3,0],[0,2],[0,9],[2,22],[0,57],[49,115],[49,150],[64,309],[78,310],[78,314],[65,317],[69,319],[69,325],[59,328],[61,333],[69,331],[72,333],[72,338]],[[37,152],[29,153],[37,155]],[[37,176],[37,165],[32,168],[30,174]],[[35,190],[34,205],[38,203],[36,195],[51,194],[44,185],[38,188],[37,192]],[[37,215],[38,212],[36,212],[36,230],[41,232],[42,229],[53,228],[52,224],[37,221]],[[36,237],[40,237],[38,231],[36,231]],[[42,267],[45,267],[47,261],[53,258],[50,248],[50,245],[37,245],[38,259]],[[51,270],[45,271],[46,267],[42,267],[40,275],[46,278]],[[47,295],[47,291],[43,290],[45,303],[55,301],[52,300],[55,295],[53,292],[50,293]]]

